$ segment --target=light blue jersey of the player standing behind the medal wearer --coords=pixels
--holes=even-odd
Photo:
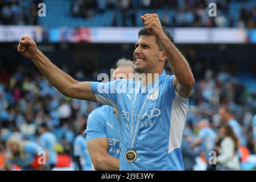
[[[86,140],[108,138],[108,154],[119,159],[121,143],[119,138],[119,121],[113,113],[114,107],[104,105],[89,114],[85,130]]]

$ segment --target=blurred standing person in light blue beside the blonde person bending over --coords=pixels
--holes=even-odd
[[[52,169],[57,162],[57,152],[55,150],[57,139],[51,131],[48,130],[46,123],[42,123],[39,127],[39,144],[48,151],[49,154],[49,167]]]

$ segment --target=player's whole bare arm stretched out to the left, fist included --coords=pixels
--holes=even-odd
[[[31,59],[39,71],[55,86],[62,94],[67,97],[77,98],[97,102],[90,82],[79,82],[61,71],[54,65],[39,49],[31,38],[24,36],[18,46],[18,52]]]

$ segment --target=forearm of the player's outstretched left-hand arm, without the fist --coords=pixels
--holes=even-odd
[[[67,95],[65,89],[70,88],[72,84],[77,81],[74,80],[67,73],[64,73],[56,67],[42,52],[38,53],[31,58],[32,62],[39,69],[39,71],[47,78],[53,86],[55,86],[61,93]]]

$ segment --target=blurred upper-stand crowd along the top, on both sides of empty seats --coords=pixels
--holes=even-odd
[[[39,24],[38,0],[1,0],[0,24]],[[93,20],[106,17],[112,26],[142,26],[138,17],[158,13],[166,27],[256,27],[256,3],[246,0],[71,0],[69,16]],[[217,16],[210,17],[209,3],[216,3]],[[238,6],[230,6],[235,5]],[[240,4],[243,3],[243,4]],[[245,6],[250,3],[250,6]],[[248,4],[249,5],[249,4]],[[47,6],[47,5],[46,5]],[[61,10],[61,9],[58,9]],[[68,16],[63,14],[63,16]],[[55,17],[56,18],[56,17]],[[95,24],[93,24],[95,26]]]

